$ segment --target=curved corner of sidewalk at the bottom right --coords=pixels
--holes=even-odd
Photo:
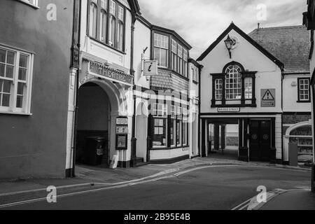
[[[291,190],[274,197],[260,210],[315,210],[315,193]]]

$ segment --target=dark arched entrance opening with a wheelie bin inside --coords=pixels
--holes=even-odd
[[[109,166],[111,103],[96,83],[85,83],[78,92],[76,163]]]

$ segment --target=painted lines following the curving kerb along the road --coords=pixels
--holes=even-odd
[[[261,169],[278,169],[278,170],[279,169],[283,169],[283,168],[279,168],[279,167],[264,167],[264,166],[253,166],[253,165],[250,165],[250,166],[248,166],[248,165],[209,165],[209,166],[204,166],[204,167],[195,167],[193,169],[188,169],[186,171],[178,172],[176,174],[171,174],[169,176],[160,176],[160,177],[157,177],[155,179],[149,179],[149,178],[153,178],[155,176],[158,176],[158,174],[154,174],[152,176],[147,176],[147,177],[144,177],[142,179],[137,179],[137,180],[133,180],[133,181],[125,181],[125,182],[121,182],[121,183],[94,183],[95,185],[100,185],[100,186],[102,186],[102,185],[103,186],[104,185],[107,185],[107,186],[108,185],[114,185],[114,186],[106,187],[106,188],[92,189],[92,190],[83,190],[83,191],[79,191],[79,192],[76,192],[76,193],[68,193],[68,194],[64,194],[64,195],[57,195],[57,198],[71,197],[71,196],[74,196],[74,195],[83,195],[83,194],[87,194],[87,193],[95,193],[95,192],[99,192],[99,191],[103,191],[103,190],[112,190],[112,189],[116,189],[116,188],[126,188],[126,187],[130,187],[130,186],[136,186],[136,185],[139,185],[139,184],[142,184],[142,183],[151,183],[151,182],[159,181],[159,180],[162,180],[162,179],[171,179],[171,178],[174,178],[174,177],[181,176],[183,174],[188,174],[190,172],[195,172],[195,171],[200,170],[200,169],[218,168],[218,167],[253,167],[253,168],[261,168]],[[161,173],[159,173],[159,175],[170,174],[170,173],[172,173],[171,171],[172,172],[179,171],[179,168],[178,169],[169,170],[169,172],[167,172],[167,171],[166,172],[161,172]],[[295,170],[295,169],[294,169],[294,171],[296,171],[296,172],[305,172],[303,170]],[[86,184],[86,185],[91,185],[91,183]],[[73,186],[76,186],[76,185],[73,185]],[[79,186],[83,186],[83,185],[81,184]],[[60,188],[65,188],[65,187],[60,187]],[[1,195],[0,195],[0,197],[1,197]],[[34,202],[41,202],[41,201],[45,201],[45,200],[46,200],[46,197],[45,198],[38,198],[38,199],[34,199],[34,200],[26,200],[26,201],[22,201],[22,202],[14,202],[14,203],[9,203],[9,204],[0,204],[0,209],[6,208],[6,207],[14,207],[14,206],[22,205],[22,204],[31,204],[31,203],[34,203]],[[244,203],[242,203],[242,204],[244,204]]]

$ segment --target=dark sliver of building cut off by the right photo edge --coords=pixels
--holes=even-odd
[[[310,52],[309,52],[309,60],[310,60],[310,72],[311,72],[311,124],[312,124],[312,131],[313,131],[313,141],[315,139],[315,127],[314,127],[314,120],[315,120],[315,51],[314,51],[314,29],[315,29],[315,1],[308,0],[307,1],[307,12],[303,13],[303,25],[307,27],[310,33]],[[315,149],[313,144],[313,155],[315,155]],[[312,174],[311,174],[311,189],[315,192],[315,156],[313,158],[313,167],[312,167]]]

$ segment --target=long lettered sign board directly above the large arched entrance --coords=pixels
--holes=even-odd
[[[96,62],[90,62],[90,73],[95,73],[98,76],[104,76],[104,78],[111,78],[113,80],[118,80],[123,83],[133,84],[133,77],[124,73],[123,71],[117,71],[115,69],[110,69],[108,66],[98,64]]]

